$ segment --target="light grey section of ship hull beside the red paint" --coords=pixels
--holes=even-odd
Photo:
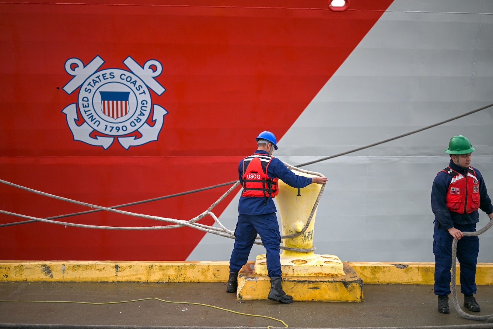
[[[396,0],[279,142],[296,165],[388,139],[493,103],[493,2]],[[476,148],[472,166],[493,195],[493,110],[305,169],[329,181],[318,254],[343,261],[434,261],[431,183],[452,136]],[[238,195],[220,220],[236,224]],[[478,227],[488,221],[480,214]],[[491,231],[491,230],[490,230]],[[478,261],[493,262],[493,232]],[[187,260],[229,260],[234,241],[207,234]],[[250,260],[264,254],[254,246]]]

